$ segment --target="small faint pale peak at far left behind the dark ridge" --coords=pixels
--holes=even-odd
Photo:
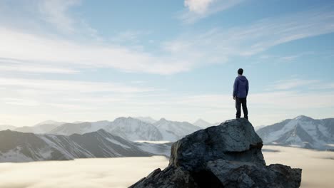
[[[56,122],[53,120],[47,120],[44,122],[40,122],[32,127],[29,127],[29,126],[16,127],[14,130],[19,131],[19,132],[32,132],[36,134],[42,134],[42,133],[49,132],[64,123],[65,122]]]

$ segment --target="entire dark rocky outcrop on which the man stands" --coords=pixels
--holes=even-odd
[[[262,146],[248,120],[228,120],[174,142],[168,167],[131,187],[300,187],[302,169],[266,166]]]

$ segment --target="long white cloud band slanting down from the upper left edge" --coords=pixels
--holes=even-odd
[[[0,28],[0,57],[45,63],[72,65],[79,68],[116,68],[128,72],[170,74],[188,70],[182,61],[172,57],[153,56],[121,46],[76,43],[61,38],[46,38]],[[48,48],[46,48],[48,46]],[[21,51],[21,49],[25,49]]]

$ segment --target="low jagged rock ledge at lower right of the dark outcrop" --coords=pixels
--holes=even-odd
[[[299,187],[301,170],[282,164],[264,166],[253,162],[216,160],[208,162],[206,171],[212,172],[223,187]]]

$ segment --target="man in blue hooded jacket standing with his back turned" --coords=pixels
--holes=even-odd
[[[238,77],[234,80],[233,99],[236,100],[236,118],[241,117],[241,105],[243,105],[243,116],[248,119],[247,110],[247,95],[248,95],[248,80],[243,75],[243,69],[238,69]]]

